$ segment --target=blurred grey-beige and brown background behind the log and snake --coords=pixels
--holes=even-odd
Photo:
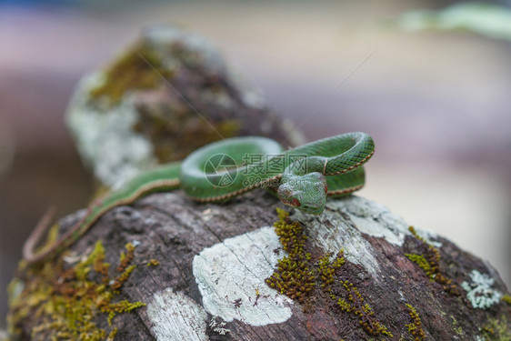
[[[92,194],[63,121],[76,82],[158,23],[215,42],[308,139],[373,135],[360,196],[487,259],[509,286],[511,20],[509,2],[493,4],[500,16],[456,26],[459,14],[417,12],[449,1],[0,0],[0,326],[38,218]]]

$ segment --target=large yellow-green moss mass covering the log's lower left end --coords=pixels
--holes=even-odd
[[[135,269],[129,265],[134,249],[131,244],[126,246],[127,252],[117,267],[120,273],[113,278],[100,241],[85,260],[71,268],[65,268],[62,257],[43,266],[20,264],[20,271],[25,271],[29,280],[15,279],[10,285],[9,332],[20,335],[21,325],[35,318],[40,322],[31,330],[32,339],[113,340],[116,328],[111,327],[112,319],[145,306],[142,302],[115,299]],[[100,322],[103,315],[109,330],[99,326],[105,325]]]

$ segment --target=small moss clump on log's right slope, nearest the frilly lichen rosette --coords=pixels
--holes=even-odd
[[[421,246],[425,248],[424,254],[405,254],[412,262],[416,263],[423,271],[426,276],[429,277],[431,282],[440,284],[444,290],[453,295],[459,296],[460,290],[451,279],[440,273],[440,252],[435,246],[426,243],[426,240],[422,236],[418,236],[414,226],[409,226],[408,230],[413,236],[420,242]]]

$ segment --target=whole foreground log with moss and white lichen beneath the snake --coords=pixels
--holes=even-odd
[[[45,266],[22,265],[10,291],[21,339],[510,336],[493,267],[357,196],[310,216],[262,190],[224,205],[155,194],[111,210]]]

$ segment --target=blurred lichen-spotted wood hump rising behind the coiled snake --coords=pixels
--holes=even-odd
[[[147,27],[122,55],[84,75],[66,122],[85,165],[108,187],[223,138],[304,142],[218,47],[167,25]]]

